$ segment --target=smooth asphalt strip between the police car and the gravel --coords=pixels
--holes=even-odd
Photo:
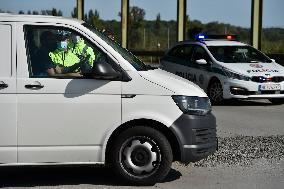
[[[268,100],[231,101],[213,113],[220,137],[284,135],[284,105]]]

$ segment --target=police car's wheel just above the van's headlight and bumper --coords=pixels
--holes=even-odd
[[[217,80],[210,83],[207,94],[212,104],[220,104],[224,101],[222,84]]]

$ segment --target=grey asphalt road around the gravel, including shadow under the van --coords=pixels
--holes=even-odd
[[[284,105],[272,105],[266,100],[234,101],[214,106],[213,112],[217,117],[220,138],[232,138],[234,142],[234,138],[239,136],[284,135]],[[249,148],[250,144],[247,145]],[[205,166],[184,166],[173,163],[172,170],[163,182],[142,188],[283,189],[283,148],[277,153],[277,156],[272,154],[269,158],[256,157],[250,164],[217,162]],[[136,188],[121,183],[109,169],[102,167],[0,168],[0,187]]]

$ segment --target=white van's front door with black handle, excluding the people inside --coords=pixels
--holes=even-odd
[[[98,57],[115,60],[72,26],[19,23],[17,32],[19,162],[102,162],[102,141],[121,124],[121,81],[50,77],[37,65],[46,58],[48,32],[78,34]]]

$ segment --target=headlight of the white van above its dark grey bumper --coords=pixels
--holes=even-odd
[[[211,103],[208,97],[174,95],[172,98],[183,113],[206,115],[211,112]]]

